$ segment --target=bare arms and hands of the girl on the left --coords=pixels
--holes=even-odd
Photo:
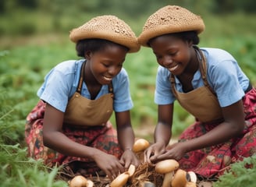
[[[110,179],[116,178],[116,176],[125,171],[130,164],[138,165],[135,155],[130,150],[125,150],[133,145],[134,139],[130,123],[124,123],[125,120],[123,120],[130,118],[129,111],[116,113],[117,124],[119,124],[119,141],[121,147],[125,150],[120,161],[111,154],[73,142],[73,140],[65,136],[62,133],[63,116],[64,113],[62,111],[53,108],[50,104],[46,104],[43,125],[44,146],[48,146],[59,153],[69,156],[91,158],[102,171],[105,171],[105,174],[108,175]]]

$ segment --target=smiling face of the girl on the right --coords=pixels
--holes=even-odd
[[[194,49],[192,42],[183,41],[172,34],[155,37],[149,44],[156,56],[159,65],[169,69],[173,75],[180,76],[187,71]]]

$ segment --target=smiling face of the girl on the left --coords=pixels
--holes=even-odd
[[[111,44],[99,51],[87,51],[85,77],[91,83],[109,84],[121,71],[127,49]]]

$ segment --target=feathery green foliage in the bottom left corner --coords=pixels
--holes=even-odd
[[[56,180],[59,168],[47,168],[42,161],[27,158],[27,150],[20,144],[0,144],[1,186],[67,187],[67,182]]]

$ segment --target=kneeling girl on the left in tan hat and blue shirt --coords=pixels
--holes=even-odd
[[[139,51],[137,37],[116,16],[98,16],[71,31],[80,60],[56,65],[37,91],[41,101],[27,116],[29,156],[80,175],[104,171],[109,178],[137,166],[131,151],[127,52]],[[108,119],[116,111],[116,129]]]

